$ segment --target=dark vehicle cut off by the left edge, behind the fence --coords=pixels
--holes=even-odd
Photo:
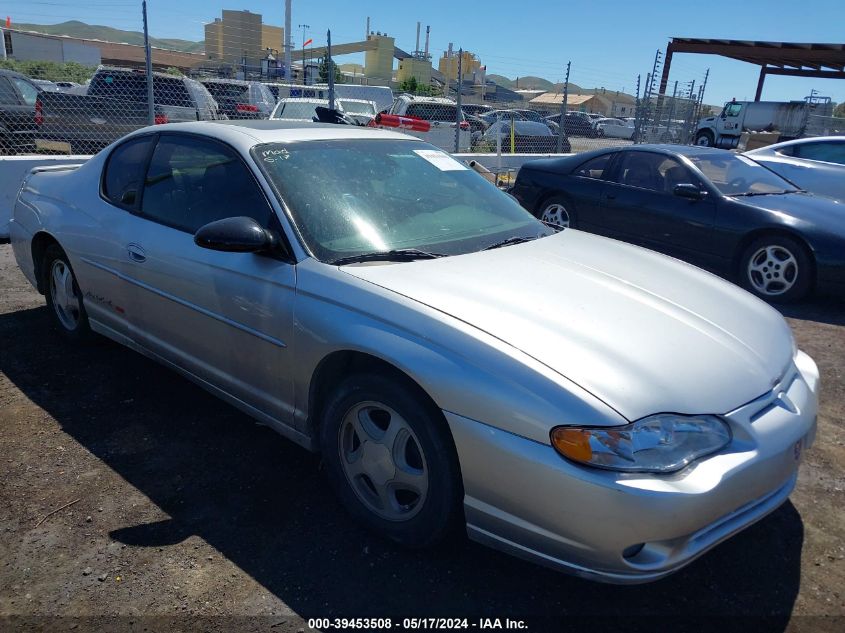
[[[41,92],[26,75],[0,69],[0,154],[35,149],[35,102]]]

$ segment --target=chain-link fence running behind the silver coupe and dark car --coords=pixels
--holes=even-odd
[[[271,117],[313,121],[330,98],[326,84],[244,81],[213,69],[188,75],[171,70],[153,73],[150,108],[147,79],[142,69],[110,66],[76,65],[66,75],[47,64],[33,64],[28,74],[0,66],[0,154],[93,154],[150,124]],[[515,95],[466,82],[460,94],[454,83],[418,87],[414,93],[337,83],[334,105],[348,123],[413,134],[450,152],[502,155],[687,144],[703,116],[700,98],[688,95],[637,99],[603,89],[579,94],[568,85]],[[845,119],[810,115],[806,134],[845,134]]]

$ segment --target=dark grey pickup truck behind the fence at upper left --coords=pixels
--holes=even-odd
[[[217,103],[198,81],[153,73],[156,123],[214,120]],[[84,94],[41,92],[35,104],[36,144],[68,154],[93,154],[149,123],[144,71],[100,66]]]

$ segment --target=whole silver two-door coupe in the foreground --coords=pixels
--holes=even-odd
[[[774,309],[555,231],[401,134],[146,128],[35,170],[12,245],[67,339],[104,334],[321,451],[348,511],[406,546],[466,529],[655,580],[783,503],[815,433],[818,371]]]

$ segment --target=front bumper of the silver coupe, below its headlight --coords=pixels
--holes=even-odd
[[[799,352],[770,393],[724,416],[728,446],[669,475],[579,466],[550,445],[445,412],[468,534],[592,580],[657,580],[788,498],[815,437],[817,403],[818,370]]]

